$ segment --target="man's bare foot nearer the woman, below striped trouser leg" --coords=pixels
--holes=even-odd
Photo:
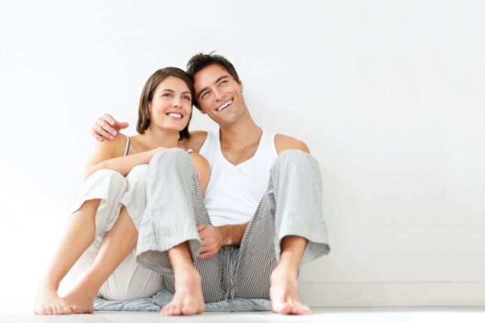
[[[162,315],[194,315],[206,310],[203,301],[201,276],[197,269],[187,269],[175,278],[175,294],[162,308]]]

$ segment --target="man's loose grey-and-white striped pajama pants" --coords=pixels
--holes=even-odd
[[[308,239],[302,262],[330,252],[321,194],[316,159],[300,150],[282,152],[272,165],[268,190],[240,246],[224,246],[214,257],[200,259],[197,224],[210,224],[210,217],[192,158],[179,148],[165,150],[153,157],[146,175],[147,205],[139,228],[137,262],[163,274],[164,287],[175,292],[167,250],[188,242],[206,303],[269,299],[270,274],[284,237]]]

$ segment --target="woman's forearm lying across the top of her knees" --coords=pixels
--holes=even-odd
[[[112,171],[117,171],[118,173],[121,173],[121,175],[126,176],[128,173],[130,173],[134,166],[140,164],[148,164],[153,155],[164,149],[166,148],[155,148],[152,150],[147,150],[145,152],[138,152],[137,154],[133,155],[116,157],[101,161],[98,164],[86,167],[84,177],[88,178],[92,173],[94,173],[95,171],[99,171],[100,169],[111,169]]]

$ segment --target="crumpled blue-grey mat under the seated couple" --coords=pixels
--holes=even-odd
[[[132,299],[130,301],[107,301],[95,299],[95,310],[126,310],[140,312],[157,312],[171,301],[174,294],[168,290],[161,290],[152,297]],[[233,299],[229,301],[217,301],[206,304],[207,312],[253,312],[270,310],[270,301],[267,299]]]

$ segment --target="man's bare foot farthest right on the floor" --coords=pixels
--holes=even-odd
[[[308,314],[308,306],[300,303],[297,293],[295,271],[275,268],[271,274],[270,300],[271,310],[281,314]]]

